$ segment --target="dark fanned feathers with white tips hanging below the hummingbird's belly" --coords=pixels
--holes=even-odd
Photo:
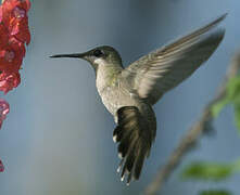
[[[148,121],[135,106],[119,108],[117,119],[117,127],[113,132],[113,140],[119,142],[118,156],[122,158],[117,171],[123,168],[122,180],[128,174],[127,184],[129,184],[132,179],[139,179],[153,136]]]

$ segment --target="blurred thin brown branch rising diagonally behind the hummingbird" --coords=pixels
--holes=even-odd
[[[213,115],[211,112],[212,105],[217,101],[222,100],[226,95],[227,82],[230,78],[238,75],[240,69],[240,53],[236,54],[233,60],[229,65],[229,69],[226,74],[226,78],[224,82],[220,84],[215,99],[205,106],[203,109],[202,116],[187,132],[187,134],[181,139],[179,145],[176,150],[170,154],[167,162],[160,168],[153,181],[147,186],[144,193],[147,195],[156,194],[157,191],[161,190],[164,182],[170,176],[170,173],[175,170],[175,168],[180,164],[184,156],[194,146],[197,145],[199,139],[206,133],[207,126],[213,120]]]

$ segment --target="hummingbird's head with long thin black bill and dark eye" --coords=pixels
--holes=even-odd
[[[97,70],[99,66],[105,66],[110,64],[122,66],[121,55],[114,48],[109,46],[98,47],[85,53],[59,54],[59,55],[52,55],[50,57],[83,58],[85,61],[88,61],[92,65],[94,70]]]

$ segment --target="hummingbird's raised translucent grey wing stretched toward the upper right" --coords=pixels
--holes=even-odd
[[[123,77],[150,104],[188,78],[216,50],[225,30],[215,28],[227,14],[130,64]]]

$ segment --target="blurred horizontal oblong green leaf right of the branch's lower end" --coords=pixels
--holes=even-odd
[[[233,166],[215,162],[197,161],[184,169],[184,179],[220,181],[232,174]]]

